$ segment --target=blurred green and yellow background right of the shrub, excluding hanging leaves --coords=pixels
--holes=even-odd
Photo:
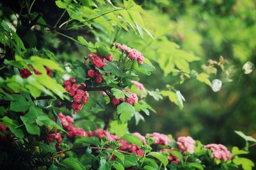
[[[159,32],[166,34],[180,48],[200,57],[200,62],[192,64],[193,68],[200,67],[208,59],[218,60],[220,55],[228,60],[228,64],[226,71],[221,73],[218,70],[218,74],[210,78],[218,78],[223,82],[219,92],[213,92],[207,85],[194,79],[188,80],[176,87],[182,88],[186,98],[183,110],[170,104],[166,98],[158,102],[148,101],[157,114],[145,118],[145,124],[131,125],[132,131],[143,134],[157,131],[175,137],[190,135],[201,139],[203,143],[214,141],[238,146],[242,146],[243,141],[236,138],[234,130],[239,129],[255,137],[256,73],[244,74],[242,71],[246,61],[256,62],[255,1],[139,3],[151,13],[150,16],[154,16],[145,22],[149,27],[155,23],[161,30]],[[147,53],[148,57],[153,52],[146,47],[143,53]],[[179,79],[168,75],[159,76],[164,74],[165,68],[161,66],[161,57],[153,56],[152,59],[159,65],[154,64],[157,71],[150,78],[142,80],[146,88],[161,89],[164,84],[172,84]]]

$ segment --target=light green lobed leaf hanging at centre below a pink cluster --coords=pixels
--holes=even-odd
[[[131,120],[132,114],[134,113],[134,107],[128,103],[121,103],[117,106],[117,113],[120,115],[120,120],[125,124]]]

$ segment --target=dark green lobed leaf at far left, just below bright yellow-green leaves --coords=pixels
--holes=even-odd
[[[31,99],[27,101],[25,97],[20,94],[13,94],[13,97],[15,98],[15,101],[10,103],[10,110],[12,111],[26,111],[33,105]]]

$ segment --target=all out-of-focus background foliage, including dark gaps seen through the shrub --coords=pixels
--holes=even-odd
[[[20,12],[17,1],[1,3],[3,6],[12,6],[11,10],[16,13]],[[122,6],[122,1],[113,3]],[[148,97],[147,102],[157,113],[145,117],[145,123],[140,122],[137,126],[135,122],[130,122],[129,131],[138,131],[141,134],[161,132],[175,137],[189,135],[200,139],[202,143],[222,143],[240,148],[243,147],[244,141],[237,138],[234,130],[243,131],[255,138],[256,73],[253,71],[251,74],[244,74],[242,70],[245,62],[256,62],[255,1],[155,0],[136,3],[145,11],[141,12],[141,15],[151,34],[145,31],[141,34],[140,31],[132,29],[127,32],[121,27],[115,27],[113,31],[108,25],[97,23],[93,24],[94,29],[87,25],[63,32],[73,38],[82,35],[88,42],[98,41],[109,46],[116,41],[140,50],[156,67],[151,76],[141,78],[141,83],[146,89],[166,89],[168,84],[175,85],[175,89],[180,90],[186,98],[184,108],[180,110],[170,103],[168,98],[155,101]],[[106,6],[106,10],[108,8]],[[41,12],[49,25],[56,24],[63,12],[56,7],[54,1],[36,1],[33,9]],[[54,15],[49,15],[52,11]],[[3,9],[1,12],[1,16],[8,16],[8,10]],[[110,15],[108,17],[111,18]],[[66,13],[62,20],[68,18]],[[3,19],[13,23],[15,16],[9,15]],[[67,41],[67,38],[59,34],[38,30],[40,29],[35,27],[33,32],[29,32],[29,35],[22,39],[26,47],[34,47],[33,53],[36,52],[35,48],[48,46],[47,49],[56,54],[56,60],[63,64],[82,59],[88,53],[84,46]],[[227,59],[228,64],[225,65],[224,71],[219,68],[217,74],[211,74],[209,77],[209,80],[218,78],[223,82],[219,92],[213,92],[208,85],[177,71],[179,69],[191,73],[193,70],[202,70],[201,66],[207,64],[207,60],[219,60],[220,56]],[[184,76],[189,78],[186,83],[183,83]],[[88,108],[89,106],[100,110],[100,104],[95,106],[93,101],[88,101]],[[84,125],[86,130],[93,130],[102,124],[102,120],[95,120],[88,108],[84,107],[84,114],[80,115],[87,116],[90,121],[78,121],[77,124]],[[79,116],[77,117],[79,119]],[[94,124],[91,120],[95,120]]]

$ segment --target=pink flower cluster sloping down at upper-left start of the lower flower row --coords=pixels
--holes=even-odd
[[[68,137],[72,138],[74,136],[92,136],[91,132],[84,131],[81,127],[74,127],[73,118],[70,116],[65,116],[63,113],[59,115],[61,125],[68,131]]]

